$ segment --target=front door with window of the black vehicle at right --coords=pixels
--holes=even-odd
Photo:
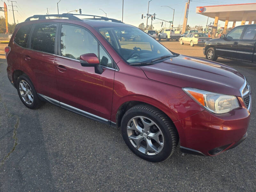
[[[244,26],[239,26],[231,30],[225,39],[219,39],[216,53],[219,57],[235,58],[238,42],[244,31]]]

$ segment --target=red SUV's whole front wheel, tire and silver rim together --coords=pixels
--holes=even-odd
[[[150,162],[169,158],[179,140],[169,117],[146,104],[130,108],[122,118],[121,129],[124,141],[132,152]]]

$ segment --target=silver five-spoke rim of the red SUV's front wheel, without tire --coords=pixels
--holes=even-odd
[[[146,155],[157,155],[164,147],[162,131],[155,122],[144,116],[130,119],[127,135],[133,147]]]

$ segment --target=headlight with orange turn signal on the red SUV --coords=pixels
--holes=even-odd
[[[238,100],[233,95],[223,95],[194,88],[182,89],[197,103],[213,113],[228,113],[239,107]]]

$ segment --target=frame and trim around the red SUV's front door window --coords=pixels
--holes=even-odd
[[[81,26],[81,25],[76,25],[76,24],[72,24],[72,23],[59,23],[59,32],[58,32],[58,44],[57,44],[57,54],[56,56],[59,56],[59,57],[62,57],[62,58],[66,58],[66,59],[71,59],[71,58],[68,58],[68,57],[64,57],[64,56],[61,56],[60,55],[60,38],[61,38],[61,28],[62,28],[62,25],[71,25],[71,26],[74,26],[74,27],[78,27],[78,28],[82,28],[84,30],[86,30],[88,33],[90,33],[93,38],[98,42],[98,59],[100,61],[100,58],[99,58],[99,52],[100,52],[100,49],[99,49],[99,45],[101,45],[102,49],[107,53],[108,57],[111,59],[111,63],[112,63],[112,68],[109,68],[109,67],[105,67],[105,66],[101,66],[100,67],[104,67],[104,68],[109,68],[109,69],[113,69],[113,70],[119,70],[118,68],[116,68],[116,65],[114,64],[114,60],[113,58],[110,56],[110,54],[108,53],[108,51],[105,49],[105,47],[100,43],[99,39],[87,28],[85,28],[84,26]],[[75,59],[72,59],[72,60],[75,60]],[[79,61],[80,60],[76,60],[76,61]]]

